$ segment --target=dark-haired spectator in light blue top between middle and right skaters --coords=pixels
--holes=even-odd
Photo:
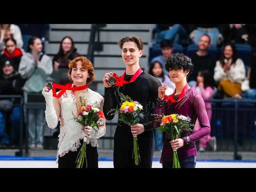
[[[172,54],[172,51],[173,51],[172,42],[168,39],[163,39],[160,43],[160,48],[161,48],[162,55],[159,55],[159,56],[156,56],[156,57],[152,58],[150,63],[154,63],[155,61],[160,62],[162,67],[164,68],[164,74],[169,76],[168,71],[165,70],[165,64],[166,64],[167,57],[170,54]]]

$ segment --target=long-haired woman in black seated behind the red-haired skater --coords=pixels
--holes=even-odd
[[[68,79],[68,64],[71,60],[80,56],[76,50],[74,41],[70,36],[62,38],[59,51],[52,60],[54,68],[52,77],[55,83],[62,85],[70,83]]]

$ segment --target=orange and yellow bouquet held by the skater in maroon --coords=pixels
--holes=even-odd
[[[191,131],[192,129],[190,127],[195,126],[194,124],[191,124],[191,118],[186,117],[183,115],[178,114],[171,114],[171,115],[158,115],[158,114],[152,114],[153,116],[156,116],[158,119],[157,121],[160,122],[160,127],[156,128],[160,131],[164,131],[168,134],[168,138],[171,138],[171,140],[176,140],[180,137],[180,134],[184,131]],[[173,165],[172,168],[180,168],[180,163],[178,159],[178,153],[177,150],[173,150]]]

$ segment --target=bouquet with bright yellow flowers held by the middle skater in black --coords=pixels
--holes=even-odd
[[[114,115],[118,114],[118,120],[123,121],[126,124],[135,125],[143,119],[144,115],[141,112],[143,106],[138,101],[133,101],[129,96],[124,96],[120,93],[121,107],[119,109],[112,109],[108,112],[108,114]],[[133,136],[133,154],[135,158],[135,164],[138,165],[140,163],[140,152],[138,146],[137,136]]]

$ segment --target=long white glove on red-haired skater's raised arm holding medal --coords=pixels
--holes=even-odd
[[[56,110],[53,106],[52,90],[50,90],[49,92],[42,90],[42,94],[46,102],[45,118],[46,118],[47,125],[48,127],[54,129],[57,127],[59,120],[56,115]]]

